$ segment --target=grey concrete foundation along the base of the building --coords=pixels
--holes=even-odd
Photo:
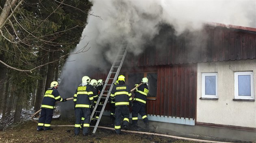
[[[130,120],[131,121],[131,120]],[[109,123],[109,116],[102,116],[102,123]],[[131,123],[131,122],[130,122]],[[138,126],[145,128],[143,120],[138,121]],[[150,121],[150,132],[157,132],[165,135],[187,137],[193,139],[203,139],[209,141],[224,142],[256,142],[256,132],[234,130],[227,128],[189,126],[182,124],[172,124],[164,122]]]

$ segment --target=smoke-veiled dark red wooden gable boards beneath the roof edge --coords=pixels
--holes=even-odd
[[[206,27],[205,45],[191,45],[191,37],[169,35],[167,46],[149,46],[138,66],[173,65],[256,58],[256,32],[226,27]],[[192,41],[193,42],[193,41]]]

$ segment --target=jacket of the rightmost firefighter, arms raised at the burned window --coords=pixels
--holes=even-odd
[[[135,87],[139,84],[135,84]],[[135,89],[135,97],[133,102],[138,102],[141,105],[145,105],[148,95],[148,86],[147,84],[141,84],[138,88]]]

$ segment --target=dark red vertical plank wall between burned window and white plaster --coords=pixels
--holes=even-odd
[[[195,119],[197,65],[160,66],[157,69],[157,97],[147,101],[147,113]]]

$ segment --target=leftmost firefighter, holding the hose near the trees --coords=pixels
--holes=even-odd
[[[53,116],[54,105],[56,101],[65,102],[66,98],[61,98],[57,88],[59,83],[53,81],[51,87],[46,90],[45,95],[43,96],[43,101],[41,105],[41,114],[37,125],[37,131],[41,130],[52,130],[50,128]],[[44,128],[43,128],[44,126]]]

